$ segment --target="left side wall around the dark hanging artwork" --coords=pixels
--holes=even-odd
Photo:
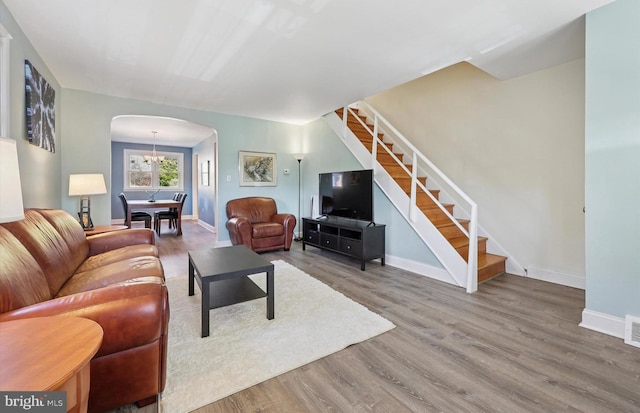
[[[63,135],[61,126],[61,88],[33,46],[24,36],[13,16],[0,2],[0,23],[13,38],[9,42],[10,59],[10,132],[8,138],[15,139],[20,163],[22,198],[25,208],[60,208],[60,149]],[[24,61],[29,60],[56,92],[56,152],[52,153],[31,145],[27,140],[25,115]]]

